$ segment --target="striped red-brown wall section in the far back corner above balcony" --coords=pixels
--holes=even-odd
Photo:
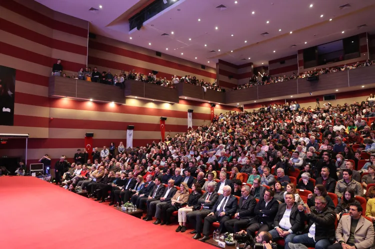
[[[252,75],[252,68],[252,62],[235,65],[219,59],[218,63],[216,63],[219,85],[224,88],[233,88],[236,85],[247,83]]]

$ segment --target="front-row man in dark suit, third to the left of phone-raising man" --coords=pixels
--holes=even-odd
[[[241,189],[241,198],[237,206],[237,212],[234,214],[234,219],[224,223],[225,229],[229,233],[238,233],[243,227],[249,223],[250,218],[254,216],[254,208],[256,200],[250,196],[250,187],[245,185]]]

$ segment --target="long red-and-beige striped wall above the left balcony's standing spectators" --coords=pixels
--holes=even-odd
[[[168,80],[174,74],[179,77],[196,76],[197,79],[204,79],[211,83],[216,79],[215,68],[206,66],[205,69],[201,69],[198,63],[163,53],[159,57],[153,50],[100,35],[89,39],[88,66],[92,69],[97,66],[98,71],[111,69],[112,74],[119,74],[123,69],[126,75],[132,69],[135,69],[136,73],[143,74],[153,70],[158,72],[157,77],[165,77]]]

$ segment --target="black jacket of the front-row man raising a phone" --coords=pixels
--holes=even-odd
[[[334,221],[336,220],[336,214],[333,212],[333,210],[325,207],[325,210],[320,214],[317,213],[315,207],[311,207],[310,210],[311,213],[308,215],[306,215],[303,211],[299,212],[301,221],[308,222],[308,228],[305,233],[307,233],[311,225],[315,223],[315,242],[323,239],[329,240],[329,238],[334,238]]]

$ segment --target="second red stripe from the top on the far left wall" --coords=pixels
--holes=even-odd
[[[10,22],[2,18],[0,18],[0,29],[2,29],[5,32],[17,35],[19,37],[42,44],[50,48],[81,54],[85,56],[87,55],[87,47],[85,46],[53,39],[51,37],[34,32],[30,29],[24,28],[20,25],[17,25],[13,22]]]

